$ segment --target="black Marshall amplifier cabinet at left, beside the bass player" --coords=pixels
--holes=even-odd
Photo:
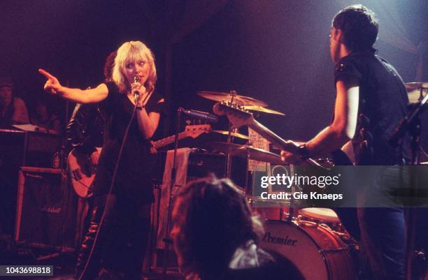
[[[30,246],[76,246],[77,197],[61,169],[22,167],[15,241]]]

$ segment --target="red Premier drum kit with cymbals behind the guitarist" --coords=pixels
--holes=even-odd
[[[425,98],[428,83],[409,82],[406,83],[406,89],[411,105]],[[266,108],[267,103],[264,101],[238,95],[235,91],[229,93],[199,91],[198,94],[211,101],[237,108],[237,115],[240,111],[284,115],[282,112]],[[227,117],[231,121],[230,116],[227,115]],[[244,122],[244,125],[246,124]],[[228,156],[238,156],[276,165],[285,164],[278,154],[251,145],[238,145],[231,142],[234,137],[248,140],[248,136],[238,133],[234,129],[233,123],[229,127],[229,131],[213,131],[229,135],[227,142],[211,143],[213,150],[223,152]],[[271,132],[261,134],[270,136]],[[272,134],[274,135],[274,133]],[[248,186],[245,186],[245,190],[248,190]],[[257,203],[252,202],[257,199],[249,196],[248,192],[246,195],[253,212],[266,219],[264,223],[266,232],[261,240],[262,248],[276,251],[288,258],[308,280],[357,279],[355,269],[357,242],[343,228],[336,212],[326,208],[303,208],[298,209],[297,214],[294,214],[293,207],[283,207],[284,205],[271,208],[254,207]]]

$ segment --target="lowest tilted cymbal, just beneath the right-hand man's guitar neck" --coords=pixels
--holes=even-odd
[[[273,154],[271,152],[264,151],[263,149],[257,149],[248,145],[238,145],[234,143],[227,142],[211,142],[211,147],[215,151],[224,152],[232,156],[240,156],[243,158],[249,157],[256,161],[264,161],[266,163],[275,163],[278,165],[284,165],[285,163],[281,161],[281,156],[278,154]]]

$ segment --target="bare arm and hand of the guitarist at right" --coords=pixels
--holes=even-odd
[[[347,76],[336,82],[336,103],[334,120],[313,139],[306,142],[308,156],[324,156],[340,149],[355,135],[359,103],[359,83],[357,78]],[[296,152],[281,152],[286,162],[301,161]]]

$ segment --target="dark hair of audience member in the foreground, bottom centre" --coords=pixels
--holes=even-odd
[[[211,175],[186,186],[176,198],[180,229],[175,239],[183,272],[218,279],[238,246],[256,243],[262,223],[250,212],[245,196],[229,179]]]

